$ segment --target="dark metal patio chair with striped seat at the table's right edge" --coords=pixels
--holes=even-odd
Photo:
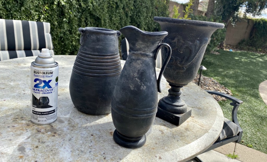
[[[209,94],[222,96],[222,97],[224,97],[226,99],[231,100],[232,102],[230,103],[230,105],[233,106],[233,109],[232,109],[232,119],[229,120],[227,118],[224,118],[222,132],[221,132],[220,136],[214,142],[214,144],[212,144],[204,152],[213,150],[213,149],[215,149],[217,147],[220,147],[220,146],[225,145],[225,144],[230,143],[230,142],[237,142],[237,143],[240,142],[242,134],[243,134],[243,130],[240,127],[240,125],[238,123],[238,120],[237,120],[237,110],[238,110],[240,104],[243,103],[243,101],[241,101],[241,100],[239,100],[239,99],[237,99],[237,98],[235,98],[233,96],[221,93],[221,92],[209,91],[209,90],[206,90],[206,91]],[[202,162],[202,160],[199,159],[198,157],[195,157],[195,160],[198,161],[198,162]]]

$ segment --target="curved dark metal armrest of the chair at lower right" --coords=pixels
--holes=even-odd
[[[207,91],[209,94],[222,96],[222,97],[224,97],[224,98],[229,99],[229,100],[232,101],[230,103],[230,105],[233,106],[233,110],[232,110],[232,122],[234,122],[239,127],[239,136],[240,136],[240,138],[238,139],[237,142],[240,142],[241,141],[241,136],[242,136],[243,130],[240,127],[239,122],[237,120],[237,110],[238,110],[240,104],[243,103],[243,101],[241,101],[241,100],[239,100],[239,99],[237,99],[237,98],[235,98],[233,96],[227,95],[225,93],[221,93],[221,92],[217,92],[217,91],[209,91],[209,90],[205,90],[205,91]]]

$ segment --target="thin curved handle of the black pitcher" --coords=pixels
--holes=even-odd
[[[159,53],[159,50],[161,47],[167,47],[168,48],[168,55],[167,55],[167,58],[166,60],[164,61],[164,63],[162,64],[162,67],[161,67],[161,70],[159,72],[159,77],[157,79],[157,86],[158,86],[158,92],[161,93],[161,88],[160,88],[160,80],[161,80],[161,77],[162,77],[162,74],[163,74],[163,71],[165,70],[170,58],[171,58],[171,46],[167,43],[160,43],[156,49],[156,55],[155,55],[155,60],[157,58],[157,55]]]

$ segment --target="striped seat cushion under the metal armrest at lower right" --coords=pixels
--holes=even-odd
[[[216,141],[236,136],[239,133],[239,127],[231,120],[224,118],[222,132]]]

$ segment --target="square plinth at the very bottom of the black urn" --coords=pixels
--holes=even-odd
[[[156,117],[162,120],[165,120],[166,122],[169,122],[171,124],[179,126],[183,122],[185,122],[188,118],[190,118],[191,112],[192,112],[192,109],[187,107],[187,112],[183,114],[172,114],[158,107]]]

